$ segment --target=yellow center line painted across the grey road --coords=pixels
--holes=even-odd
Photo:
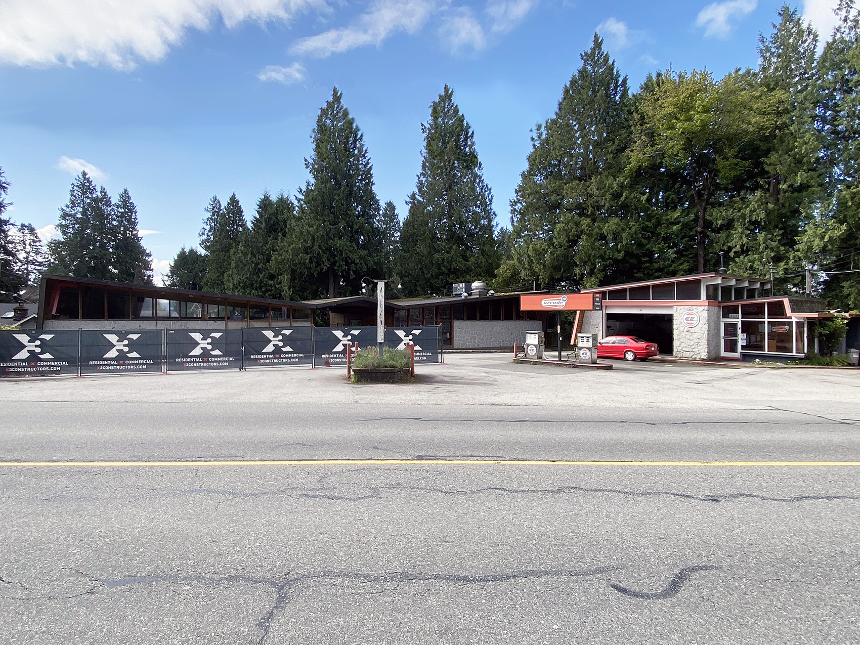
[[[555,461],[518,459],[272,459],[217,461],[3,461],[4,467],[186,467],[186,466],[860,466],[860,461]]]

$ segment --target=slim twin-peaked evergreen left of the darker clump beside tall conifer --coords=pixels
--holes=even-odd
[[[226,279],[233,249],[248,225],[236,193],[230,195],[223,208],[218,198],[212,197],[206,212],[209,215],[200,231],[200,246],[206,251],[203,288],[208,292],[224,293],[227,291]]]

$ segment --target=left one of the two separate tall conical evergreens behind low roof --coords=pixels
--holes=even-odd
[[[379,200],[364,136],[337,88],[320,110],[310,181],[299,191],[298,223],[275,254],[285,296],[334,298],[360,292],[381,271]]]

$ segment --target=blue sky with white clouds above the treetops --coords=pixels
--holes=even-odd
[[[755,65],[781,2],[580,0],[0,0],[0,167],[9,215],[50,232],[90,169],[128,187],[156,273],[197,243],[209,198],[246,217],[295,194],[333,86],[401,217],[421,122],[445,83],[476,132],[500,224],[530,130],[550,117],[593,33],[636,88],[649,71]],[[829,34],[835,0],[798,9]]]

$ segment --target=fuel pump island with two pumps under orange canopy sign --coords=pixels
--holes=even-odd
[[[522,311],[552,311],[556,313],[556,334],[558,335],[558,359],[544,356],[544,332],[525,332],[525,358],[541,360],[550,363],[570,363],[573,365],[594,365],[611,369],[611,365],[597,363],[597,334],[581,334],[583,311],[603,309],[599,293],[556,293],[556,294],[524,294],[519,297],[519,309]],[[562,311],[575,311],[574,332],[571,343],[574,344],[573,361],[562,359]],[[575,341],[575,342],[574,342]]]

